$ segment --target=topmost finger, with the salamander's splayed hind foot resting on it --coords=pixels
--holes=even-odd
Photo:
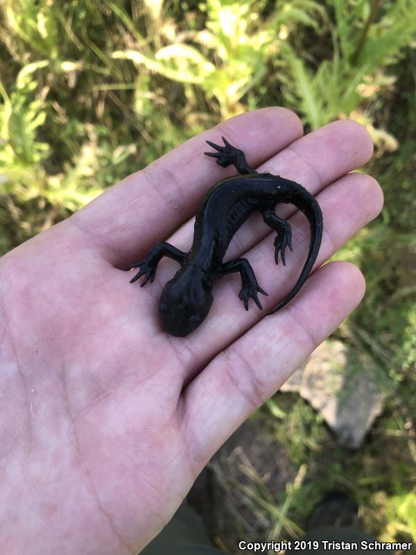
[[[285,108],[263,108],[200,133],[146,169],[110,187],[69,218],[103,257],[126,267],[196,212],[211,185],[236,173],[204,155],[205,140],[227,135],[257,167],[302,135],[300,119]]]

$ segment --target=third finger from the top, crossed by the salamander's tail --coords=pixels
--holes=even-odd
[[[324,216],[324,232],[315,268],[331,257],[363,225],[379,214],[383,194],[379,184],[370,176],[350,173],[324,189],[317,198]],[[257,280],[261,281],[262,286],[269,293],[263,301],[266,311],[275,307],[292,289],[309,250],[309,224],[304,215],[297,212],[290,223],[295,252],[291,254],[290,261],[287,261],[286,268],[279,268],[274,264],[273,234],[268,235],[248,253],[239,253],[239,256],[248,258]],[[171,278],[172,267],[169,266],[166,264],[161,268],[161,274],[157,276],[158,291],[155,293],[157,298],[164,283]],[[248,311],[248,313],[241,311],[241,302],[236,296],[238,286],[238,275],[219,280],[214,289],[214,305],[205,322],[186,338],[171,339],[171,344],[177,349],[181,359],[189,360],[189,366],[184,364],[185,379],[192,372],[191,363],[195,363],[195,359],[190,358],[190,353],[198,353],[199,368],[201,368],[214,354],[235,341],[264,317],[259,311]],[[149,311],[156,311],[154,301],[147,302],[146,305]],[[266,318],[273,317],[266,316]],[[160,330],[159,321],[155,319],[154,322],[153,332],[157,333],[157,330]]]

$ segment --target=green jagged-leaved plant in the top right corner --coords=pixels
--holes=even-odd
[[[329,60],[306,63],[284,44],[287,94],[300,106],[304,121],[318,128],[342,114],[351,114],[367,96],[366,82],[381,85],[381,67],[397,62],[404,46],[416,39],[416,3],[386,2],[376,17],[378,2],[331,0],[335,12],[333,54]]]

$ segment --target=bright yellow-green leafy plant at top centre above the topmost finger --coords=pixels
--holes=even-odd
[[[175,42],[154,53],[128,50],[112,56],[132,60],[138,67],[144,65],[180,83],[199,85],[207,101],[218,102],[221,116],[229,117],[242,110],[239,101],[260,83],[268,60],[279,52],[281,26],[294,29],[302,24],[317,29],[317,17],[326,13],[311,0],[277,2],[275,11],[263,21],[259,4],[254,0],[208,0],[201,5],[206,12],[204,28],[187,33],[198,49]]]

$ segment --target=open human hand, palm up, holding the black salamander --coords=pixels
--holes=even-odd
[[[309,246],[306,219],[284,206],[294,248],[286,268],[275,266],[261,217],[243,225],[227,254],[248,252],[269,293],[265,310],[246,312],[239,276],[227,276],[196,332],[162,330],[158,299],[177,264],[164,259],[146,289],[125,269],[160,239],[189,248],[198,202],[235,173],[203,155],[205,139],[221,135],[254,167],[317,196],[324,234],[315,269],[381,210],[374,179],[345,175],[372,154],[364,128],[338,121],[300,138],[293,112],[265,108],[194,137],[2,257],[2,553],[139,552],[218,447],[361,300],[361,273],[334,262],[265,317]]]

